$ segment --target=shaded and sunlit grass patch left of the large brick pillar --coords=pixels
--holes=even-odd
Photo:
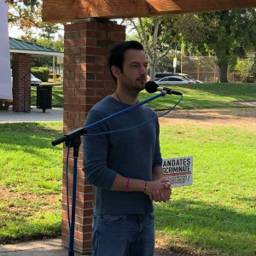
[[[61,234],[62,122],[1,124],[0,242]],[[3,194],[2,194],[3,193]]]

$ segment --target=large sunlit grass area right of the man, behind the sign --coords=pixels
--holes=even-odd
[[[253,255],[256,133],[218,125],[160,126],[163,157],[192,155],[194,180],[173,189],[167,204],[156,204],[158,239],[203,255]]]

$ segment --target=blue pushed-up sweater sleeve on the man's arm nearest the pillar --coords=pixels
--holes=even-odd
[[[96,110],[90,110],[84,126],[96,123],[102,119]],[[107,157],[109,147],[109,135],[100,135],[102,132],[109,131],[108,122],[96,125],[87,131],[83,137],[83,171],[88,183],[102,189],[111,189],[113,181],[117,175],[112,169],[108,168]],[[97,134],[91,136],[90,134]]]

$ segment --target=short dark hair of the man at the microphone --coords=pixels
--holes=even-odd
[[[123,73],[123,63],[125,61],[125,51],[127,49],[141,49],[143,50],[143,44],[137,41],[124,41],[119,44],[113,45],[112,49],[109,51],[108,56],[108,67],[110,69],[110,73],[115,83],[117,84],[117,79],[113,75],[111,71],[111,67],[116,66],[119,67],[120,71]]]

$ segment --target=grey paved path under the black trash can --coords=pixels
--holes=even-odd
[[[14,112],[12,106],[9,110],[0,110],[0,123],[13,122],[47,122],[63,121],[63,108],[42,109],[32,106],[31,112]]]

